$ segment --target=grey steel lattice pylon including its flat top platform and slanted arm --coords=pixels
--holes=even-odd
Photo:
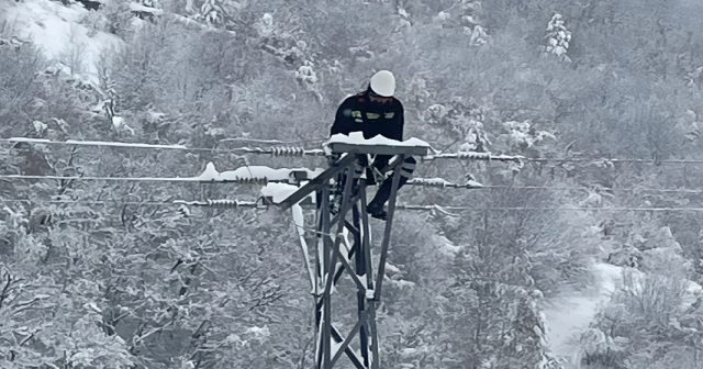
[[[332,369],[343,355],[358,369],[379,369],[379,338],[376,309],[381,298],[386,258],[390,246],[395,198],[400,183],[400,168],[408,156],[425,156],[423,146],[378,146],[346,143],[331,144],[333,154],[341,155],[331,167],[279,203],[283,209],[297,204],[313,192],[316,206],[316,281],[314,283],[316,349],[315,368]],[[392,191],[388,203],[388,219],[383,238],[373,245],[367,205],[366,168],[359,157],[390,155],[393,158],[382,172],[392,171]],[[333,188],[333,181],[337,183]],[[338,213],[331,204],[338,201]],[[350,215],[350,216],[348,216]],[[352,237],[349,237],[352,236]],[[352,238],[352,239],[349,239]],[[376,248],[372,253],[372,248]],[[378,262],[373,262],[377,258]],[[376,267],[375,267],[376,266]],[[355,284],[357,314],[355,324],[346,332],[334,325],[332,309],[335,287],[346,275]]]

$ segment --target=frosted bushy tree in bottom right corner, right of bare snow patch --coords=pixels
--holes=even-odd
[[[624,271],[623,286],[582,337],[585,364],[633,367],[698,367],[700,286],[688,280],[691,264],[668,227],[643,251],[638,269]]]

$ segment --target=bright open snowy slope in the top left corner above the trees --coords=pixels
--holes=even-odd
[[[0,5],[0,12],[16,35],[40,46],[53,62],[74,68],[74,74],[98,83],[98,65],[105,51],[120,47],[115,35],[93,30],[99,14],[79,4],[66,7],[58,1],[23,0]],[[88,25],[88,26],[87,26]]]

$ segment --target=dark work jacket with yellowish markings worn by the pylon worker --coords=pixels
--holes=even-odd
[[[371,102],[368,92],[344,100],[337,109],[331,135],[364,132],[364,138],[381,135],[403,141],[403,104],[393,98],[387,103]]]

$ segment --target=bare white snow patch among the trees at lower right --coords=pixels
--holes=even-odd
[[[553,305],[545,310],[551,351],[569,362],[567,368],[579,368],[578,362],[572,362],[573,358],[578,357],[579,335],[589,327],[599,306],[609,301],[622,280],[622,267],[595,264],[594,290],[565,293],[556,298]]]

